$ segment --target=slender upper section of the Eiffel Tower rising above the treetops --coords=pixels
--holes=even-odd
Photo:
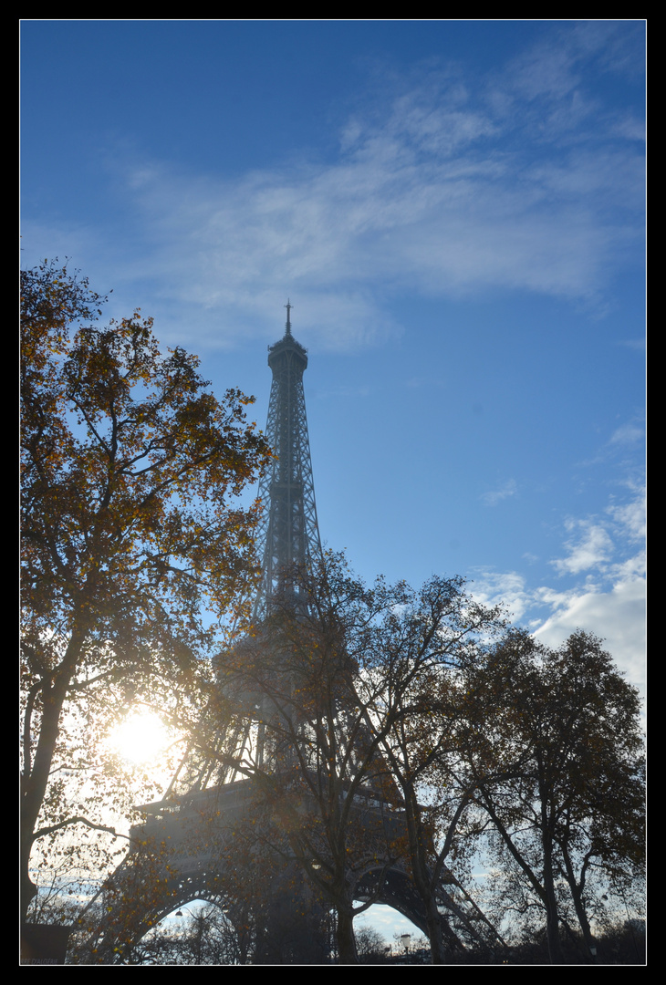
[[[257,537],[262,578],[255,618],[266,615],[286,573],[295,566],[307,569],[321,557],[302,385],[307,350],[292,335],[289,299],[285,307],[285,335],[268,347],[273,381],[266,437],[275,457],[259,484],[264,513]]]

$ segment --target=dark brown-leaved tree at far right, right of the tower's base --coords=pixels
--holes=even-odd
[[[551,961],[563,961],[568,911],[589,959],[595,880],[629,887],[643,867],[637,691],[581,630],[557,649],[514,631],[465,686],[467,761],[499,855],[545,914]]]

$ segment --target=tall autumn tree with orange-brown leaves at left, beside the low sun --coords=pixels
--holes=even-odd
[[[172,704],[196,696],[256,573],[255,509],[231,504],[268,455],[252,398],[216,399],[138,312],[98,327],[102,301],[57,263],[21,277],[24,915],[35,842],[105,826],[58,782],[67,730],[92,740],[105,704],[160,687]]]

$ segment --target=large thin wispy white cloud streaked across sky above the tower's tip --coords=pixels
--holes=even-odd
[[[167,316],[221,312],[217,344],[274,333],[287,293],[308,337],[338,350],[400,330],[396,289],[600,303],[642,233],[641,147],[589,81],[617,33],[563,29],[492,78],[449,67],[360,99],[325,163],[303,149],[234,180],[129,164],[143,241],[128,276],[160,280]]]

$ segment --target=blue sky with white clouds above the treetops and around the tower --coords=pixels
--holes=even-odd
[[[22,264],[70,257],[262,427],[290,297],[328,546],[591,629],[642,688],[644,24],[21,34]]]

